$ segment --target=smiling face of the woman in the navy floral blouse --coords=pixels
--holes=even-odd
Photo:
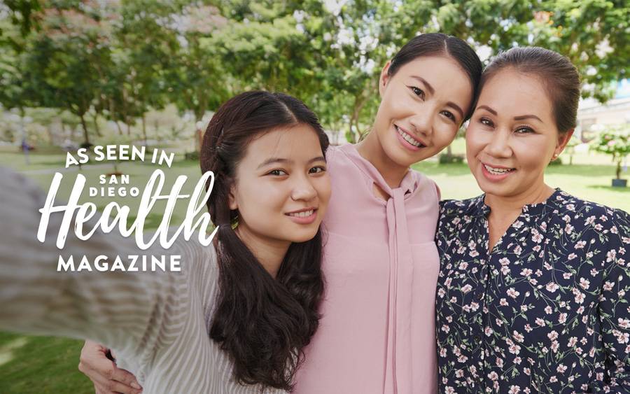
[[[545,85],[514,69],[483,87],[466,130],[466,157],[479,188],[526,197],[544,186],[545,168],[571,132],[559,134]]]

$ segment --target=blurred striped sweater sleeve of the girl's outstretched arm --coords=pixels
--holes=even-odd
[[[95,232],[82,241],[69,230],[62,251],[55,246],[62,213],[53,214],[42,243],[36,239],[45,195],[34,183],[0,167],[0,328],[42,335],[92,339],[116,349],[123,358],[151,357],[157,344],[177,335],[173,324],[186,309],[182,272],[59,272],[59,255],[75,266],[104,256],[128,266],[129,256],[169,256],[152,247],[141,251],[133,239],[115,231]],[[57,216],[55,216],[57,215]],[[90,227],[94,223],[88,223]],[[155,245],[155,244],[154,244]],[[181,260],[185,260],[181,256]],[[150,259],[148,261],[151,261]]]

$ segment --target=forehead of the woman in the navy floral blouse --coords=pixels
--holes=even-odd
[[[498,71],[484,85],[477,105],[488,105],[499,115],[533,114],[552,118],[552,102],[540,78],[515,69]]]

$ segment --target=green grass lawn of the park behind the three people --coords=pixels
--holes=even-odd
[[[454,143],[454,153],[463,153],[463,140]],[[56,169],[63,169],[65,155],[60,153],[31,153],[30,164],[20,153],[0,153],[0,165],[11,167],[33,178],[42,188],[48,189]],[[568,162],[567,158],[564,158]],[[575,155],[574,165],[552,166],[547,169],[547,183],[559,187],[578,197],[594,202],[614,206],[630,211],[630,188],[610,187],[615,167],[610,159],[603,155]],[[120,171],[130,175],[132,185],[143,186],[155,167],[148,164],[120,164]],[[180,160],[172,168],[160,167],[165,171],[167,181],[165,190],[169,190],[174,179],[187,175],[188,183],[184,188],[190,192],[194,188],[200,169],[197,162]],[[466,164],[438,165],[434,160],[416,164],[414,168],[433,178],[442,190],[444,199],[463,199],[479,195],[481,191],[472,178]],[[73,168],[64,171],[59,197],[67,199],[76,174],[87,177],[87,187],[98,185],[98,176],[113,171],[111,164],[99,167]],[[625,174],[624,174],[625,175]],[[111,199],[90,198],[85,195],[83,201],[92,201],[102,208]],[[126,197],[116,199],[121,204],[132,207],[138,205],[138,199]],[[165,202],[156,204],[147,227],[157,227]],[[185,204],[179,204],[174,212],[172,224],[180,223],[186,211]],[[133,209],[132,209],[133,212]],[[78,356],[82,342],[71,339],[52,337],[29,337],[0,332],[0,393],[93,393],[90,381],[77,370]]]

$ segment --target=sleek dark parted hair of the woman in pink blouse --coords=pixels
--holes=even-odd
[[[418,57],[425,56],[450,57],[454,59],[466,73],[468,79],[470,79],[470,86],[472,87],[472,103],[468,109],[468,113],[465,114],[463,119],[468,120],[470,115],[472,115],[473,108],[475,108],[475,99],[479,92],[477,86],[479,85],[479,78],[481,78],[483,69],[477,53],[460,38],[447,36],[442,33],[420,34],[409,40],[409,42],[394,55],[393,59],[391,59],[387,75],[394,76],[400,67],[412,62]]]

